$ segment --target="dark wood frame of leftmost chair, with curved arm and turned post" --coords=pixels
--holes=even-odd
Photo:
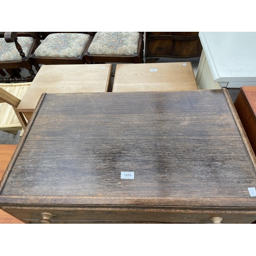
[[[28,56],[30,56],[35,49],[39,46],[39,41],[38,37],[36,36],[35,32],[30,32],[31,37],[34,38],[32,46],[29,50]],[[0,82],[31,82],[34,77],[35,73],[32,69],[32,63],[29,60],[29,58],[25,55],[23,52],[22,47],[17,41],[17,32],[6,32],[5,33],[5,40],[6,42],[14,42],[17,51],[19,52],[19,55],[22,57],[22,60],[19,61],[5,61],[5,62],[0,62],[0,69],[5,69],[11,76],[9,78],[1,78]],[[30,76],[23,78],[20,76],[20,68],[25,68],[29,71]]]

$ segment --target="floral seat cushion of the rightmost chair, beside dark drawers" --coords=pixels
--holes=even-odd
[[[97,32],[88,49],[91,55],[135,55],[139,32]]]

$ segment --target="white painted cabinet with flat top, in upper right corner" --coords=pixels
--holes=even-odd
[[[200,32],[199,89],[256,86],[256,32]]]

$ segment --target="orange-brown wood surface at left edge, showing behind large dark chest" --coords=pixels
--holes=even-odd
[[[0,145],[0,180],[17,145]],[[23,223],[0,209],[0,224]]]

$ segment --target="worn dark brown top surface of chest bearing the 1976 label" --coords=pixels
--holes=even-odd
[[[135,179],[121,180],[124,171]],[[48,94],[1,195],[256,203],[248,193],[255,186],[219,90]]]

